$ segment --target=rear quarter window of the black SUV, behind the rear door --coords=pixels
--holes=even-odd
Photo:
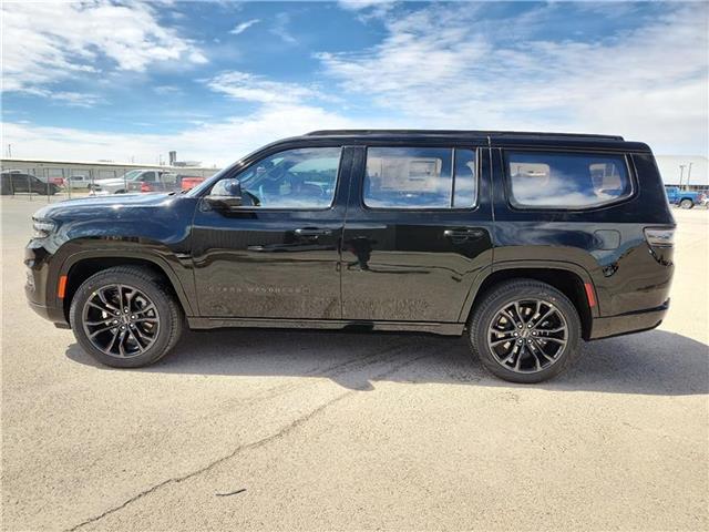
[[[514,206],[588,208],[633,193],[624,155],[508,151],[505,166]]]

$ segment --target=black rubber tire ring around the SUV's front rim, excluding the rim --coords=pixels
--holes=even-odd
[[[121,358],[112,357],[93,346],[83,327],[83,308],[92,294],[106,285],[122,284],[143,291],[157,309],[160,331],[157,340],[141,355]],[[125,273],[101,272],[86,279],[76,290],[69,313],[69,320],[76,341],[95,360],[106,366],[119,368],[136,368],[160,360],[169,347],[174,334],[174,317],[171,301],[164,290],[155,282],[143,279],[141,276]]]

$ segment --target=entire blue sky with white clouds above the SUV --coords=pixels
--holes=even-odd
[[[6,2],[3,154],[223,165],[323,127],[707,154],[706,2]]]

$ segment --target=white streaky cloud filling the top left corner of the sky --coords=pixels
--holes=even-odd
[[[52,83],[110,69],[145,71],[168,61],[204,63],[189,40],[162,27],[141,2],[3,2],[4,91],[49,91]]]

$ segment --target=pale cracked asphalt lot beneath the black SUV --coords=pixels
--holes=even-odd
[[[709,528],[703,209],[675,211],[659,329],[518,386],[424,335],[191,332],[99,367],[24,303],[42,202],[1,205],[2,530]]]

